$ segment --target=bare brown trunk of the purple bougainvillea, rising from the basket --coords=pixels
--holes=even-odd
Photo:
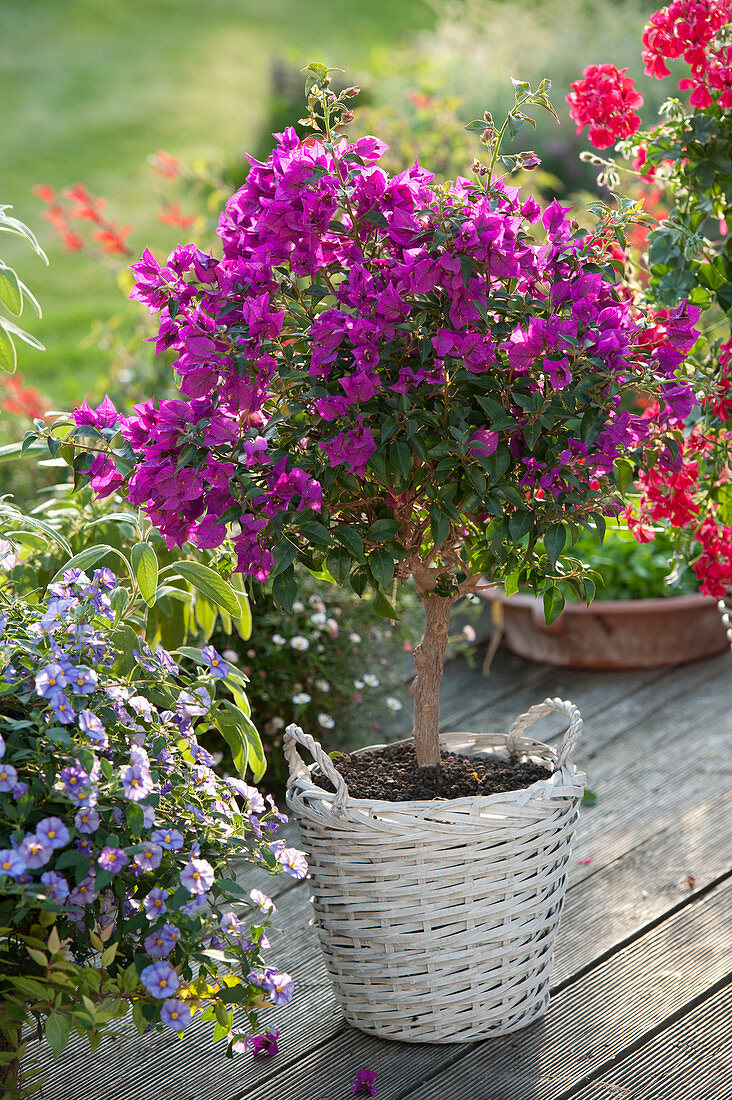
[[[439,685],[450,628],[452,596],[427,595],[425,632],[414,651],[417,675],[414,681],[414,737],[420,768],[439,765]]]

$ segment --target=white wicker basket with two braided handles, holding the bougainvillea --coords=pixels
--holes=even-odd
[[[523,736],[551,711],[569,718],[558,751]],[[584,789],[569,759],[581,726],[572,703],[547,698],[507,736],[446,734],[450,751],[514,752],[553,771],[521,791],[425,802],[351,798],[317,741],[288,726],[287,802],[349,1023],[381,1038],[470,1043],[524,1027],[546,1010]],[[298,745],[315,758],[309,769]],[[316,766],[335,794],[313,782]]]

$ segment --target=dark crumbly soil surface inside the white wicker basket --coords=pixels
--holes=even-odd
[[[549,774],[535,763],[507,760],[467,759],[456,752],[441,754],[441,767],[418,768],[413,745],[387,745],[368,752],[343,752],[334,766],[348,783],[354,799],[411,802],[429,799],[463,799],[471,794],[518,791]],[[334,785],[317,769],[313,780],[326,791]]]

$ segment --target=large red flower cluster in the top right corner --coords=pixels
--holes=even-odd
[[[691,89],[691,107],[704,108],[718,94],[719,106],[732,107],[732,50],[711,45],[730,22],[730,0],[674,0],[651,16],[643,34],[647,76],[669,76],[667,58],[684,57],[691,74],[679,88]]]

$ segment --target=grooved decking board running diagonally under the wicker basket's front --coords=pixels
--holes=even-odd
[[[514,1035],[456,1048],[390,1043],[349,1028],[236,1096],[332,1100],[346,1097],[358,1070],[370,1067],[379,1072],[379,1100],[564,1100],[726,977],[731,915],[728,881],[557,993],[546,1018]],[[663,1100],[663,1093],[644,1100]]]

